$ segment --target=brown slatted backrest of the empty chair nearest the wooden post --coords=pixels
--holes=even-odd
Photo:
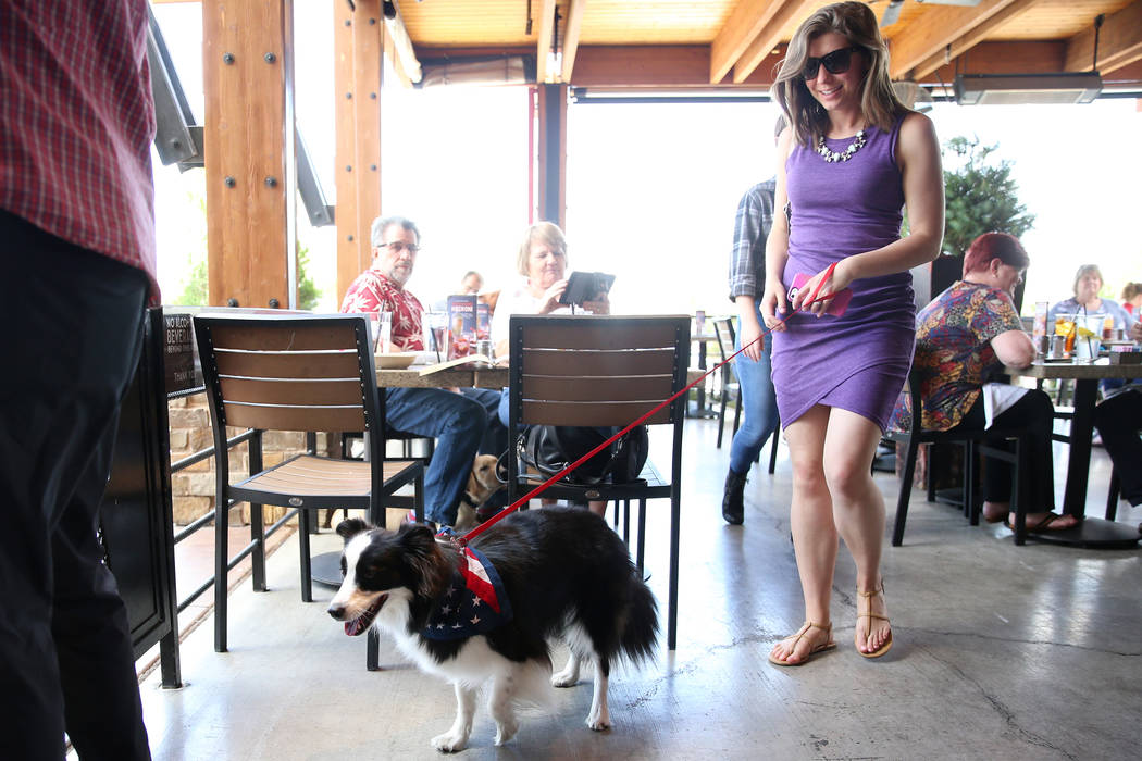
[[[369,430],[376,371],[354,315],[194,318],[211,412],[223,426]]]

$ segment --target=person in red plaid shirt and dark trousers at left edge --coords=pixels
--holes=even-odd
[[[97,510],[158,303],[145,0],[0,0],[0,759],[148,759]]]

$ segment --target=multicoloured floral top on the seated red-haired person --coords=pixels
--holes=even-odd
[[[1003,367],[991,339],[1012,330],[1023,330],[1023,325],[1011,297],[980,283],[952,283],[916,315],[912,367],[920,372],[925,430],[942,431],[959,424],[982,384]],[[904,387],[890,428],[908,430],[911,407]]]

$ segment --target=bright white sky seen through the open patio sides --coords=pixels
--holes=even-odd
[[[201,7],[155,13],[201,121]],[[298,127],[332,203],[332,10],[328,0],[295,0],[295,13]],[[383,97],[379,211],[411,217],[424,235],[410,289],[435,301],[467,269],[484,273],[489,289],[509,283],[528,224],[525,89],[394,87]],[[614,273],[617,311],[729,313],[734,211],[746,188],[773,173],[775,113],[769,104],[571,106],[571,267]],[[1080,264],[1099,264],[1115,298],[1127,281],[1142,281],[1142,112],[1134,100],[938,104],[930,115],[941,140],[978,136],[1013,164],[1020,200],[1036,214],[1023,236],[1031,254],[1024,311],[1070,296]],[[203,172],[179,175],[156,162],[155,175],[159,280],[172,302],[187,262],[204,257]],[[336,309],[336,233],[311,228],[300,203],[298,214],[312,275],[325,291],[322,307]]]

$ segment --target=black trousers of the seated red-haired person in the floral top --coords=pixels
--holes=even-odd
[[[987,416],[983,411],[983,395],[975,400],[972,408],[964,415],[952,430],[983,430]],[[1054,407],[1051,397],[1038,390],[1028,390],[996,419],[992,428],[1023,429],[1030,436],[1024,446],[1030,446],[1028,462],[1030,472],[1022,473],[1020,483],[1020,502],[1027,505],[1028,512],[1043,512],[1055,509],[1055,484],[1052,475],[1053,459],[1051,454],[1051,428],[1054,423]],[[1026,440],[1026,439],[1024,439]],[[989,442],[1007,450],[1014,450],[1014,444],[997,439]],[[1027,495],[1027,502],[1023,502]],[[988,502],[1011,502],[1011,465],[1002,460],[988,458],[983,464],[983,499]]]

